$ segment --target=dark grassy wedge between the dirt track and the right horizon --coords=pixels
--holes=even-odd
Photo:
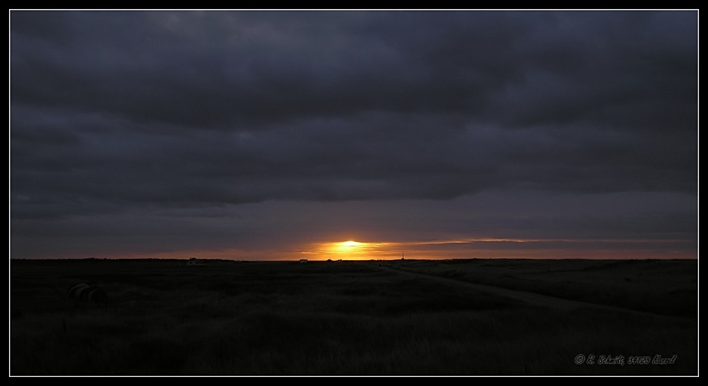
[[[697,260],[406,260],[392,267],[661,315],[695,318],[698,311]]]

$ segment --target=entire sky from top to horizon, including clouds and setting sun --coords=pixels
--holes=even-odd
[[[10,10],[11,258],[698,257],[698,12]]]

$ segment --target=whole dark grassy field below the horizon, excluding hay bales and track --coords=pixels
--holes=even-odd
[[[628,310],[532,307],[378,264]],[[13,260],[10,375],[697,375],[697,271],[682,260]],[[79,282],[110,300],[67,299]]]

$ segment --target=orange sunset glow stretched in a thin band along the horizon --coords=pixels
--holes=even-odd
[[[183,251],[120,253],[107,258],[332,260],[401,259],[691,259],[687,242],[674,239],[577,238],[450,238],[440,240],[362,240],[304,242],[263,250],[190,249]],[[81,256],[75,256],[80,258]]]

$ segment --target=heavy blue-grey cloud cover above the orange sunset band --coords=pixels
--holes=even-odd
[[[23,234],[52,218],[266,201],[697,201],[697,11],[10,16]],[[619,228],[641,216],[653,214]],[[685,211],[666,216],[685,228]]]

